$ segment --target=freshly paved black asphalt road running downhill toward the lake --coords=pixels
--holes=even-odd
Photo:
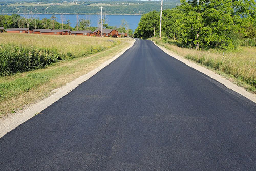
[[[137,40],[0,139],[0,170],[256,170],[256,104]]]

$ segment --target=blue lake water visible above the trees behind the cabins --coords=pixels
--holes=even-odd
[[[35,17],[39,18],[40,20],[42,18],[50,19],[51,16],[52,14],[36,14],[35,15]],[[60,19],[61,15],[56,14],[55,16],[57,17],[57,21],[61,23],[61,19]],[[65,17],[66,22],[68,19],[70,20],[72,27],[76,26],[76,15],[66,14],[63,16]],[[91,26],[99,27],[98,23],[101,16],[100,15],[78,15],[78,19],[79,18],[88,19],[91,21]],[[125,19],[125,21],[129,25],[129,28],[133,29],[134,31],[138,27],[138,23],[140,21],[141,15],[106,15],[106,18],[107,18],[107,23],[110,26],[117,26],[117,27],[120,26],[122,20]]]

